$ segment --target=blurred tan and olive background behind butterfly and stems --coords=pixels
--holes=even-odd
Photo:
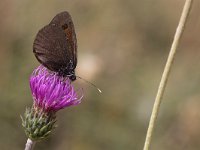
[[[58,113],[58,128],[35,150],[141,150],[183,0],[1,0],[0,149],[22,150],[20,115],[32,98],[29,76],[38,30],[72,15],[81,105]],[[152,150],[200,149],[200,1],[193,4],[164,95]]]

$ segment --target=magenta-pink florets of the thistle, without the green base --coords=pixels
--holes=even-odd
[[[81,103],[83,96],[78,96],[67,77],[58,76],[42,65],[36,68],[30,77],[30,87],[34,107],[44,111],[58,111]]]

